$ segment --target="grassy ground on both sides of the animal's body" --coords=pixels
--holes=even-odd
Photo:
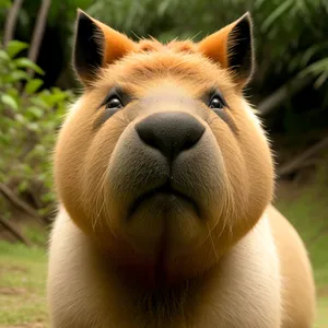
[[[314,328],[328,328],[327,190],[282,185],[276,206],[305,242],[315,272],[318,313]],[[0,242],[0,328],[45,328],[47,325],[45,247]]]

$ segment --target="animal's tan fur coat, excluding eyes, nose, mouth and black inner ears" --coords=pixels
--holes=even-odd
[[[132,43],[95,22],[106,40],[104,66],[68,114],[55,152],[52,327],[312,327],[305,248],[270,206],[268,141],[241,93],[245,81],[224,66],[234,24],[200,45],[162,45]],[[114,85],[132,101],[99,125]],[[229,124],[199,101],[213,86],[230,106]],[[163,214],[155,200],[127,216],[140,190],[167,169],[136,132],[160,112],[188,113],[206,128],[174,166],[174,183],[197,200],[201,216],[183,201]]]

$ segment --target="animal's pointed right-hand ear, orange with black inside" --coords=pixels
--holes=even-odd
[[[199,51],[233,72],[238,87],[249,81],[254,69],[251,19],[247,12],[232,24],[199,43]]]

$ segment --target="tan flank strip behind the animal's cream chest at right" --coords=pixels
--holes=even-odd
[[[304,244],[294,227],[277,209],[269,207],[268,214],[281,262],[283,327],[312,327],[315,290]]]

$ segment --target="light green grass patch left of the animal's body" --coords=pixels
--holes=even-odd
[[[46,251],[0,242],[0,327],[47,327]]]

